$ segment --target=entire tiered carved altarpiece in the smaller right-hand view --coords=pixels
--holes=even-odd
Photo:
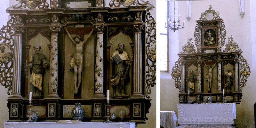
[[[188,39],[172,68],[172,78],[180,92],[180,103],[188,103],[189,90],[189,99],[193,103],[207,102],[208,95],[212,95],[213,103],[221,103],[223,89],[228,103],[240,103],[243,87],[251,73],[250,67],[233,37],[228,37],[224,46],[225,25],[219,12],[212,10],[211,5],[196,20],[194,37],[196,49],[192,38]],[[191,69],[195,75],[191,74]],[[191,75],[194,77],[189,77]]]

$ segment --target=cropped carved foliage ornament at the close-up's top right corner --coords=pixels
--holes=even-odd
[[[148,10],[152,10],[152,8],[155,8],[155,6],[151,3],[149,3],[148,1],[143,1],[143,0],[137,0],[137,2],[135,2],[136,0],[111,0],[109,2],[109,6],[110,7],[120,7],[120,5],[122,4],[123,6],[131,6],[136,5],[136,6],[148,6],[147,11]]]

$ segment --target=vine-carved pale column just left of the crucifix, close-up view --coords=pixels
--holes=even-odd
[[[50,27],[51,34],[51,57],[49,90],[46,98],[59,98],[58,96],[58,33],[62,27]]]

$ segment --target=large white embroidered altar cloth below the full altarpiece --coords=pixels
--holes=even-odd
[[[236,104],[178,104],[181,127],[231,127],[236,119]]]

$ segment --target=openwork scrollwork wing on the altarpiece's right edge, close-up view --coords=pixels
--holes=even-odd
[[[151,93],[151,87],[156,84],[156,22],[150,12],[146,15],[146,97]],[[153,49],[153,50],[152,50]]]

